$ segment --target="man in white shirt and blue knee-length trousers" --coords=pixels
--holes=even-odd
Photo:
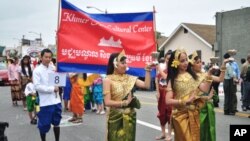
[[[59,88],[49,85],[49,73],[54,73],[53,67],[49,65],[52,56],[53,54],[49,49],[42,50],[42,63],[33,72],[33,83],[40,100],[40,111],[37,116],[42,141],[46,140],[46,133],[49,131],[51,124],[54,125],[55,140],[59,141],[60,136],[59,124],[62,118],[62,105],[57,94]]]

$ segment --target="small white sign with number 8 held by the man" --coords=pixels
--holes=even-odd
[[[65,85],[66,85],[66,73],[50,73],[49,74],[49,85],[65,87]]]

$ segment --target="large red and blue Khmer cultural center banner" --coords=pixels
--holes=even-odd
[[[106,73],[111,53],[125,50],[128,73],[144,76],[156,51],[153,12],[89,14],[61,0],[58,71]]]

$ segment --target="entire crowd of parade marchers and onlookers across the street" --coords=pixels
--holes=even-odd
[[[23,102],[30,123],[38,124],[42,141],[45,141],[51,124],[54,125],[55,139],[59,140],[62,111],[72,112],[69,122],[82,123],[84,111],[89,107],[93,110],[96,107],[97,114],[107,113],[106,140],[134,141],[135,109],[140,109],[134,88],[150,88],[153,68],[156,68],[157,117],[161,125],[161,134],[156,140],[172,140],[171,133],[174,132],[175,141],[215,141],[214,107],[219,107],[221,82],[225,93],[225,115],[238,112],[237,84],[241,84],[242,110],[250,110],[250,55],[247,61],[241,60],[241,69],[230,52],[225,53],[220,67],[211,64],[204,69],[197,52],[188,55],[185,50],[169,50],[159,64],[146,64],[145,80],[141,81],[126,74],[128,66],[122,51],[111,54],[105,77],[68,73],[63,88],[48,84],[48,74],[56,71],[52,56],[49,49],[44,49],[37,66],[31,65],[29,56],[24,56],[20,65],[18,58],[10,58],[8,66],[13,106],[17,106],[18,101]]]

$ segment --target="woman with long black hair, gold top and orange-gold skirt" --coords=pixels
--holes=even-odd
[[[205,79],[199,78],[188,65],[184,50],[171,54],[168,63],[168,86],[166,103],[173,105],[172,126],[175,141],[200,141],[199,109],[204,100],[199,92],[208,92],[211,85],[211,74]]]

